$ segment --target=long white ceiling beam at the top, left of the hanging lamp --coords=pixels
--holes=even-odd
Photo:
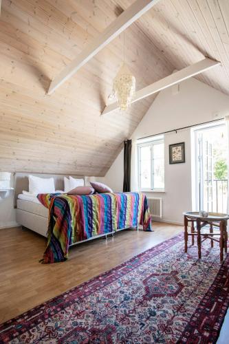
[[[52,80],[47,94],[52,94],[55,89],[71,78],[80,67],[83,67],[85,63],[98,54],[100,50],[113,41],[122,31],[126,30],[129,25],[140,18],[142,14],[150,10],[158,1],[160,0],[136,0],[127,10],[124,10],[124,12],[122,12],[122,14],[120,14],[120,16],[97,37],[97,39],[94,39],[83,52],[78,54],[78,56]]]

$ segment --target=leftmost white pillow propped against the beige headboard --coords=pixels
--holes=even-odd
[[[40,178],[29,175],[30,193],[55,193],[54,178]]]

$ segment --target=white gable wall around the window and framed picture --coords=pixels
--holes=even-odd
[[[142,138],[171,129],[196,125],[201,122],[221,118],[229,113],[229,97],[212,87],[190,78],[177,87],[170,87],[158,94],[146,112],[144,118],[133,133],[132,138]],[[177,133],[167,133],[165,139],[165,193],[153,193],[162,197],[163,220],[171,223],[183,223],[182,213],[192,209],[191,197],[191,154],[190,129]],[[168,144],[185,142],[186,162],[168,163]],[[123,151],[105,176],[105,180],[114,191],[122,191]],[[146,193],[152,195],[152,193]]]

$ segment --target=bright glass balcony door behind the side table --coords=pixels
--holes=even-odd
[[[197,211],[227,212],[227,157],[227,133],[224,123],[195,130]]]

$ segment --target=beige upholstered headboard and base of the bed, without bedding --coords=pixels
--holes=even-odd
[[[56,190],[63,190],[64,189],[64,177],[69,178],[69,175],[50,175],[50,174],[37,174],[37,173],[15,173],[15,178],[14,178],[14,204],[17,204],[17,196],[22,193],[23,190],[28,191],[29,190],[29,181],[28,181],[28,175],[36,175],[37,177],[41,178],[54,178],[54,184]],[[78,176],[78,175],[72,175],[74,178],[83,178],[86,181],[85,177]],[[87,181],[89,181],[89,177],[87,177]],[[93,178],[94,179],[94,178]],[[96,178],[97,179],[97,178]],[[99,180],[99,178],[98,178]],[[47,217],[43,217],[41,215],[37,215],[34,213],[30,213],[29,211],[21,210],[21,209],[16,209],[16,220],[18,224],[21,224],[21,226],[28,228],[30,230],[33,230],[36,233],[39,233],[40,235],[43,235],[43,237],[47,237],[47,226],[48,226],[48,219]],[[129,227],[128,227],[129,228]],[[122,228],[116,230],[116,232],[120,230],[124,230],[127,228]],[[135,228],[138,230],[137,228]],[[107,239],[107,236],[113,236],[114,233],[116,232],[111,232],[107,234],[101,234],[101,235],[96,235],[94,237],[91,237],[86,240],[78,241],[72,245],[80,244],[85,241],[89,241],[91,239],[96,239],[98,237],[105,237]]]

